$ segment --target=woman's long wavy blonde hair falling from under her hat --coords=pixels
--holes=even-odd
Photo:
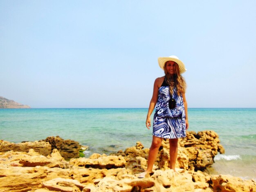
[[[170,85],[170,93],[173,94],[173,88],[176,87],[177,94],[180,96],[182,93],[186,92],[186,81],[180,74],[180,69],[177,63],[175,63],[174,68],[175,73],[173,75],[169,74],[166,69],[166,63],[164,64],[164,74],[165,82]]]

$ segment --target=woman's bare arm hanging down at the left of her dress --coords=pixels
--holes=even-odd
[[[150,115],[152,114],[155,105],[157,103],[157,97],[158,97],[158,89],[159,89],[159,83],[161,82],[161,78],[156,78],[155,83],[154,83],[154,89],[153,89],[153,96],[150,100],[150,104],[148,107],[148,114],[147,114],[147,119],[146,119],[146,127],[149,129],[151,126],[150,123]]]

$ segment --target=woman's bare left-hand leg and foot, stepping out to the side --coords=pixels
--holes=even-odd
[[[143,178],[147,173],[152,172],[153,165],[155,163],[155,160],[157,159],[159,147],[162,144],[162,140],[163,138],[153,136],[151,147],[148,152],[148,167],[145,172],[139,174],[139,178]]]

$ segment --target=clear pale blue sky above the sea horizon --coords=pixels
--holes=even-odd
[[[170,55],[189,107],[256,107],[256,1],[0,1],[0,96],[31,107],[148,107]]]

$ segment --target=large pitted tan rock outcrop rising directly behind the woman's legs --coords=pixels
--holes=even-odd
[[[186,132],[186,138],[179,140],[178,155],[176,167],[186,170],[204,170],[214,163],[214,157],[225,150],[220,144],[218,134],[214,131],[202,131],[195,133]],[[166,170],[169,167],[169,141],[164,139],[162,146],[159,148],[155,165],[159,169]],[[149,149],[137,142],[136,146],[128,147],[124,152],[119,151],[113,155],[121,155],[127,158],[137,156],[148,158]]]

